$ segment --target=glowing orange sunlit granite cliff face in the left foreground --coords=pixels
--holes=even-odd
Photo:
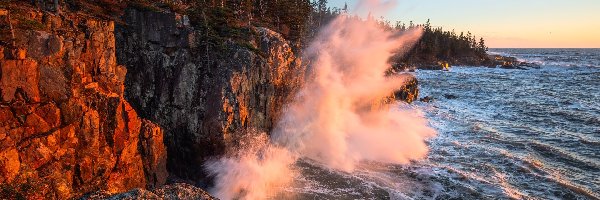
[[[11,41],[0,46],[2,198],[67,199],[164,184],[163,130],[124,98],[127,69],[116,62],[114,23],[13,8],[22,20],[11,21],[14,40],[3,31]]]

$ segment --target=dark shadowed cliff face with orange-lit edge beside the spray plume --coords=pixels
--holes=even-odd
[[[205,30],[175,13],[128,10],[116,28],[127,66],[125,97],[165,130],[168,168],[191,180],[237,131],[269,131],[301,85],[304,68],[278,33],[254,28],[246,46],[208,49]]]

